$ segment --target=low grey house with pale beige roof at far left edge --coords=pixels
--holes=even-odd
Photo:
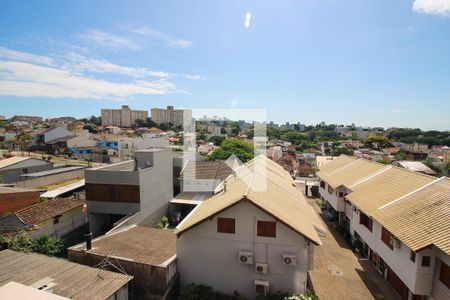
[[[42,159],[14,156],[0,160],[0,183],[14,183],[21,175],[53,169],[53,164]]]

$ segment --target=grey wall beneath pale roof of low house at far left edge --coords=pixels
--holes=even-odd
[[[27,159],[0,170],[0,183],[20,181],[20,175],[51,170],[53,164],[40,159]],[[25,171],[25,172],[24,172]]]

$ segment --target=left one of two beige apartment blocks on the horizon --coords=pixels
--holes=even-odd
[[[121,109],[102,109],[102,126],[131,127],[137,119],[148,118],[146,110],[132,110],[128,105]]]

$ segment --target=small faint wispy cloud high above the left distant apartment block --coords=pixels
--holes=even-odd
[[[130,39],[114,35],[99,29],[89,29],[87,32],[78,34],[82,40],[96,46],[114,49],[138,50],[141,47]]]

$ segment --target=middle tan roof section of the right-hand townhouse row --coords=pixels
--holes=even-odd
[[[366,215],[372,215],[379,207],[410,193],[435,180],[435,177],[392,167],[369,180],[351,187],[346,198]]]

